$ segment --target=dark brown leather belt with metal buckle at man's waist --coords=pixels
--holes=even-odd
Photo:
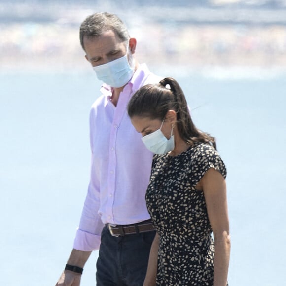
[[[129,225],[114,225],[107,223],[106,226],[112,236],[124,236],[128,234],[136,234],[155,230],[151,219]]]

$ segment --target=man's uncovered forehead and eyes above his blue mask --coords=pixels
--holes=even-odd
[[[83,38],[86,59],[93,67],[106,64],[126,55],[126,44],[122,42],[112,30],[101,36],[88,39]]]

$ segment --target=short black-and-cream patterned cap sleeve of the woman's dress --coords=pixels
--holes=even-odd
[[[196,185],[211,168],[217,170],[223,178],[226,178],[224,162],[211,145],[201,144],[196,148],[191,166],[193,185]]]

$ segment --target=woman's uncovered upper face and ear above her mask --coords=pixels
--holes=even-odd
[[[133,116],[131,123],[142,136],[148,135],[160,129],[162,121],[160,119],[150,119],[149,117]],[[161,131],[169,139],[171,137],[172,124],[168,120],[164,121]]]

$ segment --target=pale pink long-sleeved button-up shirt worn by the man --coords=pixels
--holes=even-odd
[[[119,96],[111,103],[112,89],[104,84],[102,95],[90,112],[91,174],[73,248],[98,250],[106,223],[133,224],[149,219],[145,192],[153,154],[131,124],[127,105],[143,85],[162,78],[140,65]]]

